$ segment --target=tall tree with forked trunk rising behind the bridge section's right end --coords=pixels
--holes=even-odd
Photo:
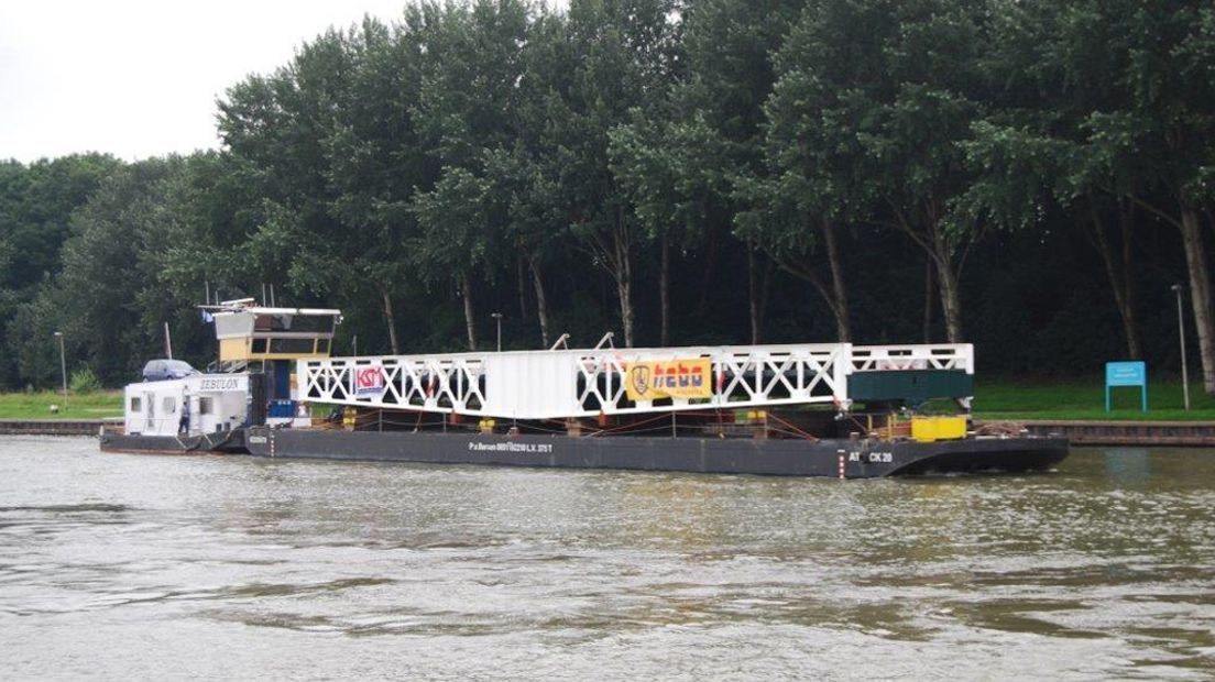
[[[823,0],[778,57],[769,108],[776,167],[793,174],[776,188],[802,197],[824,238],[864,215],[906,235],[932,262],[950,342],[982,227],[954,205],[968,183],[960,144],[982,113],[983,29],[981,1]]]

